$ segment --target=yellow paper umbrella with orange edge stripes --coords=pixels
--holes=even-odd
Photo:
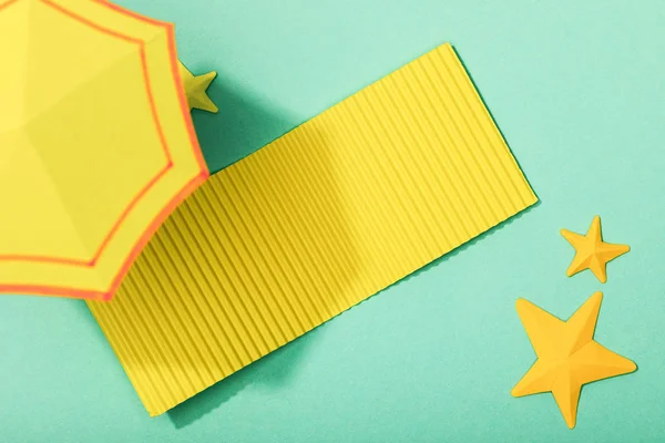
[[[110,299],[208,176],[173,25],[0,0],[0,292]]]

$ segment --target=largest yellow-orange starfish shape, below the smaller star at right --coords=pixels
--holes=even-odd
[[[538,360],[511,393],[551,392],[570,429],[575,426],[582,385],[637,369],[631,360],[593,340],[602,300],[603,293],[595,292],[566,321],[531,301],[519,299],[516,303]]]

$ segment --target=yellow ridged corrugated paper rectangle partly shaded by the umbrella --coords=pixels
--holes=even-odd
[[[157,415],[535,202],[444,44],[213,175],[89,306]]]

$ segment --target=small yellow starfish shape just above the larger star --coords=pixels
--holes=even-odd
[[[561,235],[575,248],[575,257],[566,271],[569,277],[584,269],[591,269],[593,275],[604,284],[607,281],[607,262],[631,250],[631,247],[627,245],[615,245],[603,241],[601,217],[597,215],[593,217],[586,235],[571,233],[567,229],[561,229]]]

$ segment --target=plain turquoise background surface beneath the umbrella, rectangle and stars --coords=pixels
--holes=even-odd
[[[214,169],[450,41],[541,203],[155,419],[82,301],[0,297],[0,442],[665,441],[665,2],[122,4],[219,73],[219,114],[194,113]],[[564,275],[559,229],[595,214],[632,246],[606,285]],[[570,431],[510,396],[534,360],[514,302],[567,318],[596,290],[596,340],[640,369],[585,387]]]

